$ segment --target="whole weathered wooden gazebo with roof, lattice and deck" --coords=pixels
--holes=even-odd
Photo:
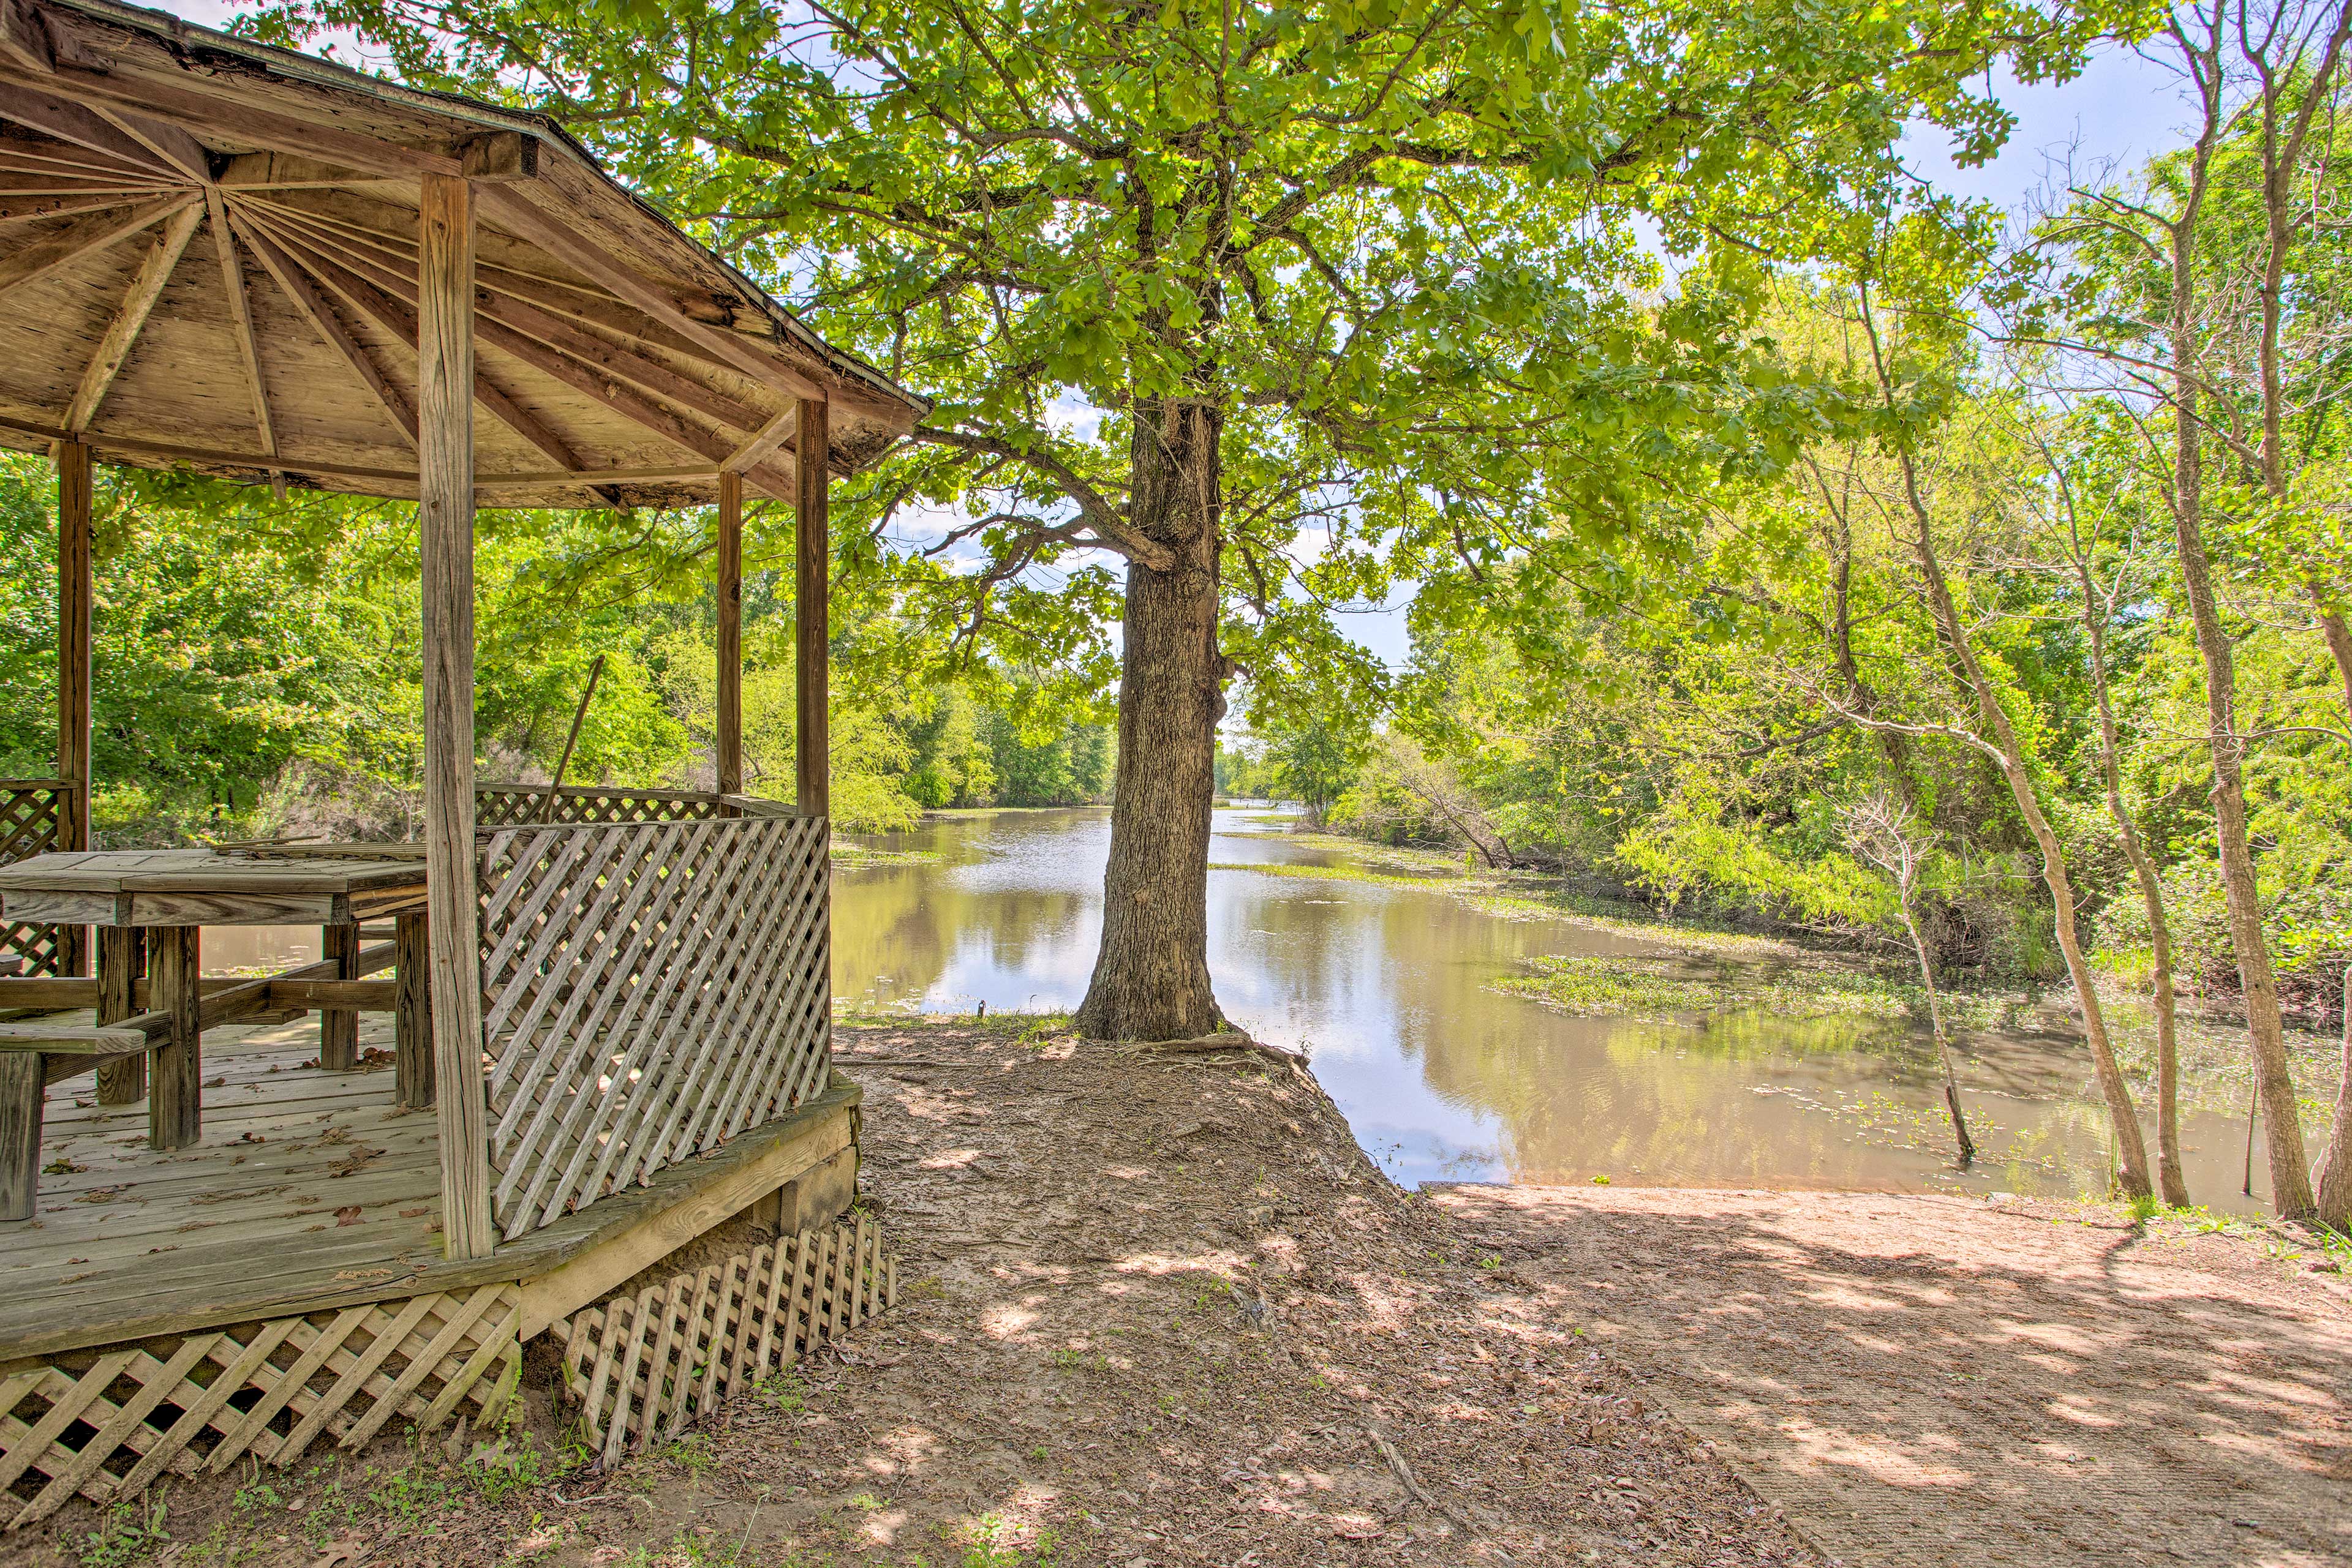
[[[0,788],[0,858],[19,860],[0,867],[0,952],[24,969],[0,978],[16,1020],[0,1025],[0,1208],[35,1215],[0,1225],[14,1523],[247,1453],[292,1462],[322,1434],[480,1413],[510,1387],[492,1373],[548,1328],[572,1335],[576,1392],[619,1450],[774,1335],[788,1349],[877,1305],[870,1234],[793,1222],[830,1222],[854,1168],[856,1091],[828,1048],[826,487],[922,411],[541,118],[108,0],[0,0],[0,444],[54,454],[61,517],[56,778]],[[421,851],[87,856],[94,461],[419,503]],[[746,487],[797,510],[788,806],[743,795]],[[477,501],[717,505],[713,792],[477,788]],[[202,924],[270,912],[327,926],[329,959],[198,980]],[[369,919],[395,919],[395,940],[365,945]],[[393,980],[365,978],[386,966]],[[303,1222],[322,1199],[254,1180],[273,1133],[249,1124],[228,1150],[205,1119],[202,1032],[306,1006],[322,1009],[315,1067],[261,1070],[289,1048],[280,1025],[219,1081],[268,1100],[334,1079],[287,1105],[409,1114],[350,1190],[388,1197],[334,1208],[358,1220]],[[400,1072],[369,1079],[355,1025],[379,1013],[397,1018]],[[66,1150],[40,1171],[21,1159],[26,1084],[31,1150]],[[56,1084],[52,1103],[80,1103],[52,1112],[45,1150]],[[146,1147],[111,1154],[106,1218],[139,1204],[148,1222],[108,1239],[75,1208],[92,1185],[73,1140],[120,1150],[141,1105]],[[350,1175],[285,1171],[292,1187]],[[174,1204],[202,1213],[172,1229]],[[684,1286],[593,1307],[746,1213],[771,1244],[691,1309]],[[127,1241],[165,1229],[186,1239]]]

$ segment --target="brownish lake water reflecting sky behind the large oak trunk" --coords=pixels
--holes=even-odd
[[[1068,1011],[1084,997],[1108,811],[957,813],[870,844],[922,858],[835,872],[833,983],[844,1006]],[[1209,858],[1334,865],[1350,851],[1298,844],[1256,811],[1218,811]],[[1397,1180],[2044,1194],[2105,1185],[2091,1060],[2056,1030],[1962,1037],[1980,1157],[1959,1175],[1924,1027],[1762,1009],[1573,1018],[1489,990],[1538,954],[1651,952],[1661,947],[1618,929],[1489,914],[1423,886],[1209,872],[1209,969],[1225,1016],[1308,1051],[1357,1140]],[[2183,1117],[2197,1201],[2263,1206],[2260,1161],[2256,1197],[2239,1194],[2244,1138],[2244,1112]]]

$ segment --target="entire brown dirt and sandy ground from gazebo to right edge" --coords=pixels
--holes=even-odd
[[[2345,1293],[2239,1239],[2171,1248],[1957,1199],[1416,1197],[1291,1067],[1018,1020],[844,1027],[837,1060],[868,1088],[863,1201],[903,1255],[901,1307],[703,1432],[609,1474],[529,1434],[256,1472],[167,1495],[148,1537],[71,1509],[0,1559],[2310,1563],[2352,1544]]]

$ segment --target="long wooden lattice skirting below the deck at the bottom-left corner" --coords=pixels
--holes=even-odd
[[[56,1356],[0,1378],[0,1507],[16,1528],[165,1472],[358,1448],[395,1418],[482,1420],[522,1378],[520,1331],[522,1291],[492,1284]]]

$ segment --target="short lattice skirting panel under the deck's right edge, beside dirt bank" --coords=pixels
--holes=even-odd
[[[898,1298],[882,1227],[818,1225],[774,1246],[576,1312],[564,1387],[604,1462],[677,1436],[774,1366],[809,1354]]]

